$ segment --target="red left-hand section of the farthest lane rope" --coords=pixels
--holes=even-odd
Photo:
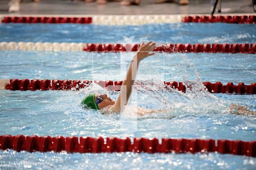
[[[79,23],[90,24],[92,17],[4,17],[2,23]]]

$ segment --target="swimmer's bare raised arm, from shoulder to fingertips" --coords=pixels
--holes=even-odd
[[[125,80],[121,86],[121,91],[116,99],[115,104],[112,106],[113,112],[120,112],[123,109],[123,106],[127,104],[132,91],[132,86],[134,85],[134,81],[137,76],[138,66],[141,60],[145,59],[148,56],[154,55],[152,50],[156,48],[155,42],[148,42],[144,43],[140,46],[137,54],[134,55],[133,59],[131,60],[130,67],[128,69],[127,75]]]

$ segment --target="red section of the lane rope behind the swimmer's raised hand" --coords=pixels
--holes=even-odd
[[[128,47],[129,46],[129,47]],[[132,48],[131,48],[132,47]],[[105,52],[125,52],[137,51],[140,44],[94,44],[87,43],[87,47],[83,51],[105,51]],[[126,49],[127,48],[127,49]],[[153,51],[166,53],[248,53],[256,54],[256,43],[252,44],[163,44],[157,46]]]

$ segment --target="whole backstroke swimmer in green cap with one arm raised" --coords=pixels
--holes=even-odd
[[[131,96],[140,61],[146,57],[154,55],[155,53],[152,52],[154,48],[156,48],[156,43],[152,41],[148,43],[143,42],[143,44],[140,46],[137,51],[137,55],[134,55],[131,61],[125,81],[122,83],[121,91],[116,101],[112,100],[107,94],[89,94],[82,100],[81,104],[83,104],[85,108],[101,110],[103,113],[120,113],[123,111]],[[140,116],[148,113],[157,113],[157,111],[158,110],[156,109],[137,108],[137,114]],[[166,111],[167,110],[162,110],[161,112]],[[231,113],[235,114],[256,114],[256,112],[250,111],[247,108],[237,104],[230,105],[230,111]]]

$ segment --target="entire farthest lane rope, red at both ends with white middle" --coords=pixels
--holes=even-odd
[[[143,25],[157,23],[256,23],[255,14],[224,15],[2,15],[2,23],[77,23],[102,25]]]

